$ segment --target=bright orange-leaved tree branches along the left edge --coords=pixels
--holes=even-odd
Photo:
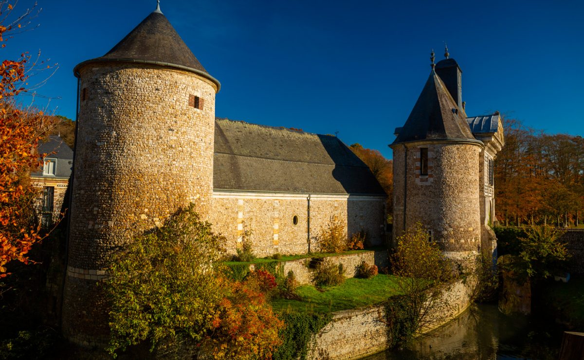
[[[12,5],[0,1],[2,22],[11,19]],[[15,20],[0,24],[0,42],[18,33],[33,15],[27,10]],[[2,44],[2,48],[6,46]],[[0,277],[6,276],[6,264],[12,260],[27,263],[33,244],[42,239],[40,228],[32,218],[36,191],[30,184],[30,171],[41,165],[36,153],[39,141],[48,135],[51,118],[32,107],[23,107],[18,96],[30,90],[30,71],[39,62],[22,54],[18,60],[4,60],[0,65]]]

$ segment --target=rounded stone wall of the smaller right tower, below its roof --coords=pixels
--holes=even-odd
[[[420,174],[420,148],[428,149],[426,176]],[[460,259],[477,254],[481,146],[427,141],[397,145],[393,151],[394,240],[420,222],[446,256]]]

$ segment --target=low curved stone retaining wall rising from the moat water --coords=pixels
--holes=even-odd
[[[472,280],[471,280],[472,281]],[[469,280],[454,282],[444,294],[450,311],[436,314],[440,322],[424,332],[432,331],[464,312],[471,303]],[[344,310],[333,313],[331,323],[316,335],[309,359],[359,359],[376,354],[388,347],[385,309],[370,306],[363,309]]]

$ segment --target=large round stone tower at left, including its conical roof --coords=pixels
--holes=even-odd
[[[213,193],[215,93],[157,8],[103,57],[77,65],[79,113],[62,324],[80,344],[107,341],[96,282],[134,235]]]

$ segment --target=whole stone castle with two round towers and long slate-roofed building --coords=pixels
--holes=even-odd
[[[472,120],[472,135],[449,88],[460,86],[460,68],[442,62],[391,145],[394,234],[422,221],[458,257],[491,239],[492,183],[479,159],[488,166],[503,140],[498,116]],[[247,230],[260,256],[307,253],[331,216],[346,223],[347,235],[365,231],[372,244],[384,243],[386,194],[367,166],[336,137],[216,118],[220,83],[159,7],[74,74],[79,105],[62,313],[69,340],[107,341],[96,282],[110,254],[191,202],[231,253]],[[430,125],[420,128],[424,121]]]

